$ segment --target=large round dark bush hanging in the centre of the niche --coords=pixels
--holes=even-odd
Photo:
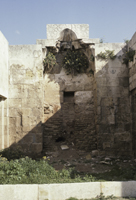
[[[64,56],[63,67],[67,74],[85,73],[89,61],[82,50],[68,50]]]

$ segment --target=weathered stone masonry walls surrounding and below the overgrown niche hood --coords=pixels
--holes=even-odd
[[[94,75],[72,77],[60,65],[43,74],[43,59],[66,28],[77,36],[75,48],[79,39],[89,45]],[[9,46],[1,32],[0,44],[1,149],[20,146],[35,154],[57,151],[64,142],[103,156],[136,155],[135,56],[129,67],[122,64],[124,43],[99,43],[89,39],[88,25],[64,24],[47,25],[47,39],[36,45]],[[136,34],[128,49],[135,44]],[[116,58],[99,59],[105,50]]]

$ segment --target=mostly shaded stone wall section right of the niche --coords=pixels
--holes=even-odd
[[[97,139],[101,155],[132,155],[128,68],[122,64],[124,44],[96,44],[95,55],[115,50],[115,60],[95,59]]]

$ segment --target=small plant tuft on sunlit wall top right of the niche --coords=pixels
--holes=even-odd
[[[97,54],[97,58],[102,60],[114,60],[116,58],[116,55],[114,54],[114,50],[105,50],[105,52],[101,51],[99,54]]]

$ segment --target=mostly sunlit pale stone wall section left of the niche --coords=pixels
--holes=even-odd
[[[27,153],[42,150],[41,45],[9,46],[9,140]]]

